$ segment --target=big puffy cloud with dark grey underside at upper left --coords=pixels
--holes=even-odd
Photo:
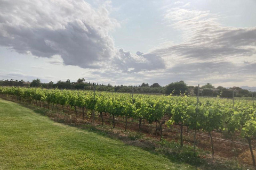
[[[63,64],[82,68],[102,69],[117,63],[119,70],[125,64],[134,65],[135,71],[140,71],[138,65],[153,69],[151,57],[141,62],[147,57],[128,57],[116,49],[110,32],[119,23],[109,16],[110,2],[98,8],[83,0],[0,0],[0,4],[1,46],[38,57],[59,55]],[[49,62],[61,64],[60,60]]]

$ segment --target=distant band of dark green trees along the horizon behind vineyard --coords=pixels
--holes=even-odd
[[[76,82],[70,82],[70,80],[61,81],[57,83],[49,82],[42,83],[40,79],[35,79],[31,82],[25,82],[23,80],[2,80],[0,86],[17,86],[17,87],[42,87],[46,89],[74,89],[74,90],[97,90],[97,91],[109,91],[109,92],[134,92],[143,94],[166,94],[166,95],[197,95],[198,87],[188,86],[184,81],[177,81],[168,84],[167,86],[160,86],[159,83],[153,83],[149,85],[143,82],[140,86],[112,86],[109,84],[99,84],[94,82],[85,82],[84,78],[79,78]],[[224,88],[219,86],[215,88],[211,83],[207,83],[199,88],[199,96],[209,97],[251,97],[252,92],[249,90],[241,89],[239,87]],[[256,92],[254,95],[256,96]]]

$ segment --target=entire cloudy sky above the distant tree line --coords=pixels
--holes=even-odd
[[[256,86],[255,0],[0,0],[0,79]]]

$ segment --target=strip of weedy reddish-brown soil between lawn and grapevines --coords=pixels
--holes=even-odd
[[[24,103],[18,103],[20,106],[31,109],[37,114],[50,117],[53,121],[66,124],[78,129],[83,129],[89,132],[102,135],[107,138],[121,140],[125,145],[141,148],[155,155],[164,155],[166,158],[175,163],[187,163],[196,166],[198,169],[223,169],[223,170],[239,170],[247,169],[240,166],[235,160],[201,158],[206,155],[202,149],[196,149],[196,155],[193,147],[185,145],[182,148],[177,142],[169,142],[166,140],[157,141],[155,139],[146,138],[145,134],[140,132],[124,131],[121,129],[113,129],[108,125],[91,124],[90,122],[71,123],[69,115],[62,112],[52,112],[49,109],[36,107]]]

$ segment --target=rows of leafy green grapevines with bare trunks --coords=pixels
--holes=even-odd
[[[189,96],[156,96],[138,94],[119,94],[111,92],[72,91],[59,89],[0,87],[0,95],[37,106],[45,105],[49,109],[54,107],[58,111],[74,109],[76,116],[79,111],[85,116],[100,117],[102,125],[105,123],[103,114],[108,113],[115,128],[117,117],[123,118],[125,130],[128,120],[138,120],[138,129],[142,122],[155,123],[159,130],[160,140],[163,129],[179,126],[180,145],[183,146],[183,130],[194,132],[194,148],[197,132],[209,134],[211,150],[214,155],[212,133],[228,133],[232,141],[237,134],[246,139],[251,152],[253,166],[255,158],[252,143],[256,139],[256,109],[253,101],[222,98],[203,98]],[[58,106],[61,106],[60,108]]]

